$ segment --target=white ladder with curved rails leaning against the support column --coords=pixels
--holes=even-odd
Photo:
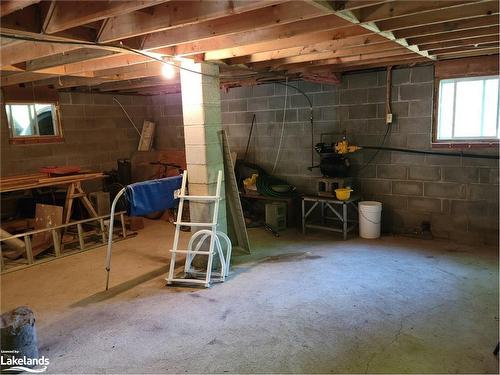
[[[175,235],[174,235],[174,243],[172,245],[172,256],[170,258],[170,270],[168,272],[167,277],[167,285],[171,285],[173,283],[188,283],[188,284],[203,284],[205,287],[210,287],[210,281],[212,276],[212,263],[215,252],[219,255],[221,271],[214,273],[214,275],[219,276],[220,281],[225,281],[226,276],[229,274],[229,265],[231,263],[231,241],[229,237],[220,231],[217,231],[217,218],[219,215],[219,203],[220,203],[220,192],[222,185],[222,171],[219,171],[217,175],[217,187],[215,195],[213,196],[200,196],[200,195],[186,195],[186,182],[187,182],[187,171],[184,171],[182,176],[182,186],[181,191],[178,196],[180,198],[179,208],[177,210],[177,221],[175,222]],[[213,202],[213,216],[212,222],[210,223],[196,223],[196,222],[183,222],[182,221],[182,210],[184,208],[184,201],[201,201],[201,202]],[[197,231],[191,236],[189,240],[187,250],[179,250],[179,235],[181,226],[190,226],[190,227],[206,227],[210,229],[202,229]],[[227,247],[226,255],[224,256],[224,252],[222,251],[222,246],[220,242],[220,238],[222,238]],[[210,244],[208,250],[201,250],[203,243],[210,239]],[[184,264],[184,278],[174,278],[174,270],[175,270],[175,258],[177,254],[186,254],[186,261]],[[207,270],[206,272],[199,272],[191,268],[191,263],[193,258],[196,255],[208,256],[207,261]],[[193,275],[193,277],[188,277],[189,275]],[[204,279],[196,278],[194,276],[203,275]]]

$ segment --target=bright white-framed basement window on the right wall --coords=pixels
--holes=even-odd
[[[436,140],[498,142],[498,76],[439,81]]]

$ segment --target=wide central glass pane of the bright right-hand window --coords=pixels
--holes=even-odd
[[[480,137],[483,81],[459,81],[456,90],[454,136],[459,138]]]

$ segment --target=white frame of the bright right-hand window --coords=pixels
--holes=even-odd
[[[437,143],[443,143],[443,142],[499,142],[499,112],[500,112],[500,93],[497,96],[497,120],[496,120],[496,137],[491,137],[491,136],[479,136],[479,137],[458,137],[455,136],[455,105],[456,105],[456,95],[457,95],[457,83],[458,82],[464,82],[464,81],[483,81],[483,100],[482,100],[482,112],[481,112],[481,124],[479,126],[483,126],[483,116],[484,116],[484,90],[485,90],[485,83],[489,79],[499,79],[498,75],[486,75],[486,76],[471,76],[471,77],[456,77],[456,78],[446,78],[446,79],[441,79],[437,82],[439,85],[438,87],[438,98],[437,98],[437,116],[436,116],[436,129],[435,129],[435,142]],[[453,98],[453,120],[452,120],[452,136],[451,138],[439,138],[439,126],[441,122],[441,114],[442,112],[440,111],[441,107],[441,99],[442,99],[442,89],[443,89],[443,84],[444,83],[454,83],[454,98]],[[499,80],[499,91],[500,91],[500,80]]]

